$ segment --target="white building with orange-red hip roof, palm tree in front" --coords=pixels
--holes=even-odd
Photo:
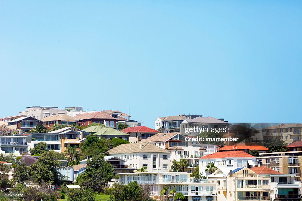
[[[199,172],[210,175],[206,171],[207,164],[213,163],[217,168],[253,168],[257,164],[256,157],[243,151],[216,152],[208,154],[199,159]]]

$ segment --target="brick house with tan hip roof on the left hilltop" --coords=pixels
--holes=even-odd
[[[47,129],[50,129],[55,123],[69,126],[76,125],[76,118],[68,116],[67,114],[50,115],[45,117],[42,121]]]

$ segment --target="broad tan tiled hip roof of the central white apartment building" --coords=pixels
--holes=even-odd
[[[167,153],[171,154],[171,152],[166,151],[156,145],[153,145],[149,142],[139,142],[134,144],[121,144],[117,147],[114,147],[108,150],[108,154],[124,154],[124,153]]]

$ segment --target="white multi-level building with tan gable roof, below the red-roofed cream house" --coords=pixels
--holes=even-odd
[[[184,158],[188,161],[187,171],[194,171],[194,167],[198,165],[199,158],[206,154],[216,152],[216,145],[201,145],[196,141],[186,141],[185,136],[180,132],[158,133],[141,142],[150,142],[162,149],[171,152],[171,161]]]

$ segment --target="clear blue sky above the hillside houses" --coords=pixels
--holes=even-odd
[[[1,1],[1,113],[301,122],[301,1]]]

